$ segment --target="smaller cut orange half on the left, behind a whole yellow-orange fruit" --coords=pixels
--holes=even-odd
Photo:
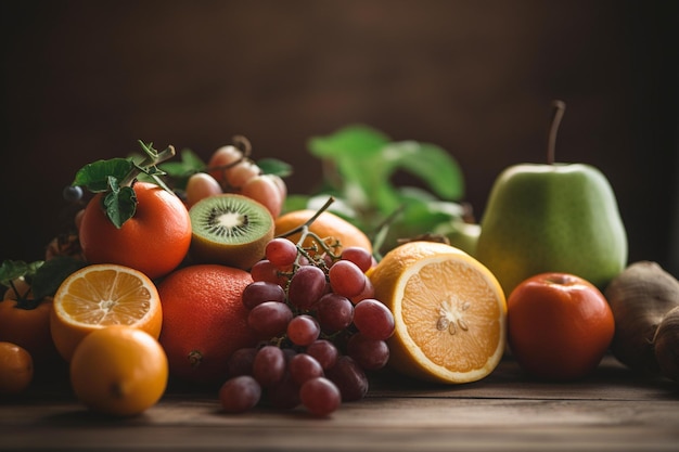
[[[128,325],[158,337],[161,298],[141,271],[116,263],[85,267],[64,280],[54,294],[50,328],[56,350],[71,361],[89,333],[110,325]]]

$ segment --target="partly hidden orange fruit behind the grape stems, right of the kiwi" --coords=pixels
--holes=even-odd
[[[293,229],[304,224],[313,215],[316,215],[316,211],[311,209],[292,210],[283,214],[276,219],[274,234],[278,236],[292,231]],[[372,253],[372,244],[366,233],[333,212],[323,211],[316,220],[313,220],[309,227],[309,231],[323,240],[328,240],[329,244],[340,241],[342,247],[344,248],[349,246],[359,246]],[[297,243],[299,241],[299,236],[300,235],[296,233],[286,236],[286,238]],[[304,246],[310,246],[310,244],[311,240],[307,238]],[[340,254],[340,249],[341,248],[336,249],[335,253]]]

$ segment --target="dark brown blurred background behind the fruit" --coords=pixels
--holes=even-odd
[[[137,140],[207,159],[234,134],[290,163],[350,124],[446,148],[483,216],[507,166],[558,160],[610,179],[630,261],[679,275],[679,2],[590,0],[36,1],[0,3],[0,259],[61,231],[62,188]]]

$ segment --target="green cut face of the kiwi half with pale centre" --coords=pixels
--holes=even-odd
[[[235,194],[206,197],[191,207],[189,216],[194,235],[227,245],[257,241],[273,225],[266,207]]]

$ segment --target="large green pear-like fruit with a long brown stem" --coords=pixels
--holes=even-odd
[[[476,257],[505,294],[535,274],[576,274],[600,289],[627,264],[627,233],[605,176],[586,164],[553,163],[565,105],[555,102],[548,164],[507,168],[481,222]]]

